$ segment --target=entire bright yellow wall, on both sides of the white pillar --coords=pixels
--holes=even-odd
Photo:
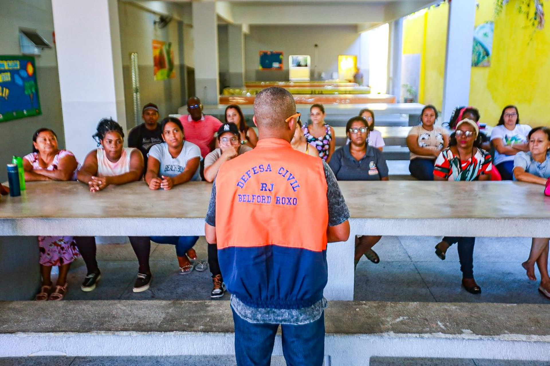
[[[495,24],[491,66],[472,67],[470,105],[488,125],[496,125],[505,105],[515,104],[522,123],[550,126],[550,22],[533,31],[518,13],[519,2],[510,0],[495,19],[494,0],[477,0],[476,26],[489,20]],[[421,54],[419,103],[437,108],[443,99],[448,12],[443,3],[406,18],[403,27],[403,54]]]

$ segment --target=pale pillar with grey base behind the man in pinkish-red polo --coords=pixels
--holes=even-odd
[[[218,104],[218,24],[216,2],[193,2],[195,91],[202,104]],[[190,95],[191,96],[191,95]]]

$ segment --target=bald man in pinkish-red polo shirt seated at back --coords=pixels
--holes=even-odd
[[[179,117],[182,121],[185,140],[194,143],[201,149],[201,156],[204,159],[211,149],[214,134],[222,126],[216,117],[202,114],[201,100],[191,97],[187,100],[187,111],[189,114]]]

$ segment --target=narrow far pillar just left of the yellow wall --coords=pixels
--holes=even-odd
[[[401,58],[403,55],[403,18],[389,25],[388,93],[401,102]]]

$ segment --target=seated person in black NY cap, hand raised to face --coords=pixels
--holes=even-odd
[[[224,161],[233,159],[235,156],[252,150],[248,145],[240,143],[239,128],[235,123],[224,123],[218,129],[219,148],[205,157],[205,181],[213,182],[218,174],[219,167]],[[219,269],[218,249],[216,244],[208,244],[208,267],[212,273],[214,283],[210,297],[222,297],[226,292],[226,285],[223,282],[222,272]]]

